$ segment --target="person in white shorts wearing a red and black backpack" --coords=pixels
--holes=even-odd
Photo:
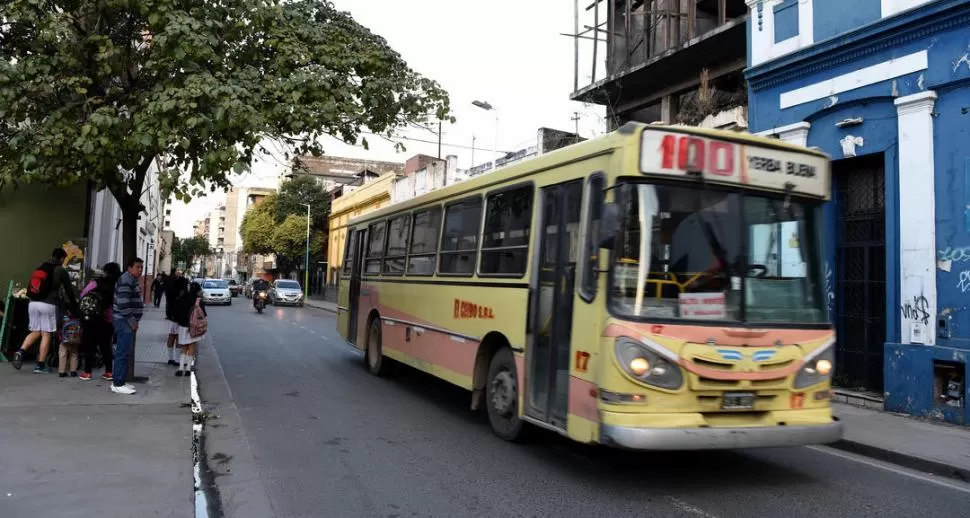
[[[63,248],[55,248],[51,252],[51,259],[37,267],[30,277],[27,287],[27,297],[30,304],[27,307],[30,334],[13,356],[13,368],[20,370],[24,364],[24,353],[40,339],[40,353],[37,356],[37,366],[34,373],[47,372],[47,355],[50,353],[51,337],[57,332],[57,310],[65,298],[77,307],[74,298],[74,288],[71,286],[71,276],[64,269],[67,252]]]

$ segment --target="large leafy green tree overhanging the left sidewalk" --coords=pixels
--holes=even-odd
[[[451,118],[438,84],[325,0],[0,2],[0,188],[108,189],[126,257],[151,167],[188,201],[263,139],[319,156],[432,118]]]

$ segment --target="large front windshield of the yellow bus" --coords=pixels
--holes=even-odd
[[[820,208],[783,196],[624,183],[610,304],[644,319],[824,323]]]

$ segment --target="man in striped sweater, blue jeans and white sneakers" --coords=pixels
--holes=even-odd
[[[114,369],[111,384],[111,391],[115,394],[134,394],[135,387],[127,383],[128,381],[128,356],[131,355],[131,346],[135,342],[135,333],[138,332],[138,323],[141,321],[145,311],[145,303],[142,301],[141,289],[138,287],[138,279],[141,278],[145,268],[145,261],[134,258],[128,261],[126,271],[118,283],[115,285],[114,304],[112,306],[112,318],[115,326],[115,349]]]

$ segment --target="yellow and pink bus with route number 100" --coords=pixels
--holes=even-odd
[[[830,181],[778,140],[629,123],[350,221],[337,325],[505,440],[833,442]]]

